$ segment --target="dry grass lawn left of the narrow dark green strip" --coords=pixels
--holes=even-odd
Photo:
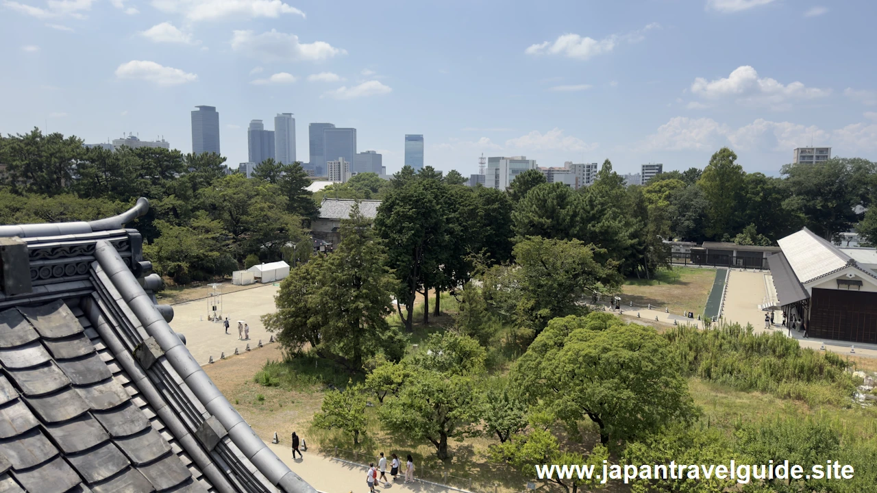
[[[674,267],[660,270],[652,279],[627,279],[622,286],[622,305],[669,306],[670,311],[703,313],[709,290],[716,279],[712,268]]]

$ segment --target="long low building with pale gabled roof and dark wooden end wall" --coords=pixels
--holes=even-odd
[[[877,343],[877,273],[804,228],[767,257],[777,306],[808,337]]]

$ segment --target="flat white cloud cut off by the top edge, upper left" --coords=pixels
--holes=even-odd
[[[153,0],[152,4],[160,11],[180,13],[191,22],[224,18],[278,18],[282,14],[304,17],[303,11],[281,0]]]

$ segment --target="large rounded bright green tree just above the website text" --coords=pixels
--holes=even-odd
[[[589,418],[602,444],[635,439],[697,409],[667,340],[652,327],[610,325],[596,332],[549,325],[512,368],[528,402],[541,401],[568,430]],[[538,382],[552,382],[550,385]]]

